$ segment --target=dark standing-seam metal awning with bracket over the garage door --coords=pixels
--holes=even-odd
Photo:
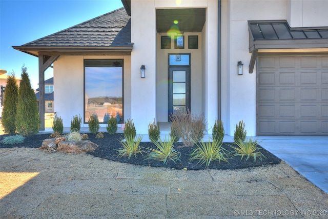
[[[250,71],[259,50],[328,48],[328,27],[291,28],[286,21],[249,21]]]

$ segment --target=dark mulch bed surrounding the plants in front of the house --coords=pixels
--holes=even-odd
[[[17,145],[3,145],[0,143],[0,148],[14,148],[14,147],[27,147],[27,148],[39,148],[42,145],[43,140],[46,138],[49,138],[50,134],[35,134],[25,137],[25,141],[23,144],[17,144]],[[145,160],[146,155],[149,153],[149,150],[146,148],[156,148],[156,146],[151,142],[141,142],[140,147],[142,150],[144,150],[143,155],[138,154],[137,157],[131,156],[130,159],[128,157],[117,157],[117,149],[121,148],[122,145],[119,142],[120,138],[123,138],[124,135],[120,133],[115,133],[113,135],[110,135],[108,133],[104,133],[104,138],[95,138],[94,134],[88,133],[89,140],[95,144],[97,144],[99,147],[94,152],[89,152],[89,154],[101,157],[104,159],[112,160],[112,161],[118,161],[123,163],[130,163],[130,164],[136,164],[136,165],[143,165],[143,166],[153,166],[153,167],[168,167],[168,168],[174,168],[174,169],[206,169],[205,164],[200,165],[198,163],[198,160],[190,162],[190,154],[192,150],[195,148],[193,147],[183,147],[182,143],[175,143],[174,149],[179,151],[181,153],[180,161],[177,161],[176,163],[169,161],[166,164],[163,164],[161,161],[154,161],[154,160]],[[0,135],[0,141],[8,135]],[[223,143],[222,147],[228,151],[231,151],[231,147],[229,145],[233,145],[233,143]],[[256,167],[256,166],[262,166],[262,165],[274,165],[279,164],[281,160],[270,153],[269,151],[265,150],[261,146],[258,146],[260,149],[260,152],[267,158],[262,158],[260,160],[259,158],[256,159],[254,162],[253,157],[250,157],[248,161],[245,160],[245,157],[240,160],[240,156],[235,156],[229,159],[229,163],[227,162],[221,162],[218,161],[212,161],[209,165],[209,169],[241,169],[241,168],[250,168],[250,167]]]

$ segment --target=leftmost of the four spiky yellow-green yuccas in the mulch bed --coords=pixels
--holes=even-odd
[[[117,149],[118,157],[128,156],[130,159],[132,155],[137,157],[138,153],[142,154],[142,150],[140,148],[140,142],[142,140],[142,135],[138,135],[135,138],[132,135],[124,135],[125,140],[121,138],[120,143],[122,144],[122,148]]]

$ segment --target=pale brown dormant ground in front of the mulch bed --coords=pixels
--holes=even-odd
[[[0,157],[0,218],[328,217],[328,194],[284,162],[179,170],[23,147]]]

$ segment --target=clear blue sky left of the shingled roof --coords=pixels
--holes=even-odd
[[[38,58],[17,51],[35,39],[64,30],[123,7],[120,0],[0,0],[0,69],[17,77],[23,64],[38,88]],[[49,68],[45,79],[53,76]]]

